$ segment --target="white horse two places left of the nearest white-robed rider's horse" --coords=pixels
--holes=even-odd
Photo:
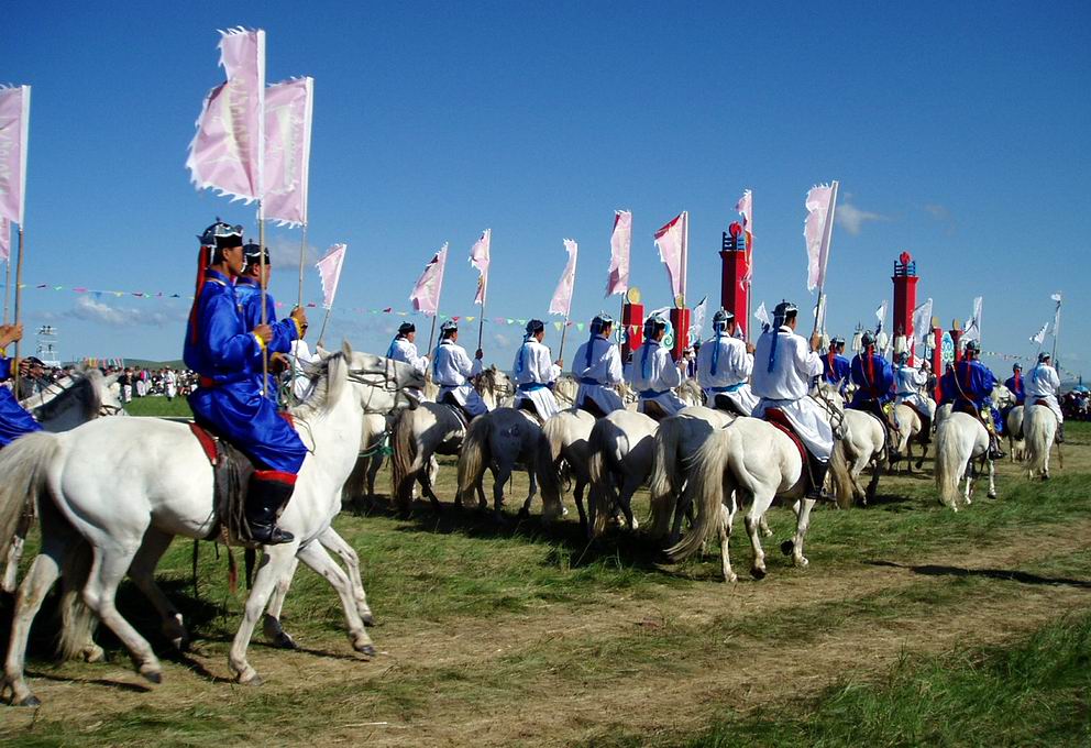
[[[652,418],[636,410],[615,410],[595,421],[587,461],[591,479],[587,525],[592,537],[606,529],[616,507],[625,513],[629,529],[637,529],[632,495],[651,474],[657,428]]]

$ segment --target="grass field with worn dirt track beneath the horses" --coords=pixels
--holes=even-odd
[[[793,521],[774,509],[769,578],[749,579],[749,544],[736,534],[736,585],[719,581],[715,549],[674,566],[639,534],[613,531],[588,544],[574,512],[553,526],[537,516],[517,521],[525,476],[504,525],[450,508],[437,517],[423,505],[406,520],[379,497],[335,526],[360,552],[382,653],[351,653],[339,601],[301,569],[284,623],[302,650],[271,649],[258,628],[251,661],[265,676],[260,689],[227,681],[244,593],[228,590],[223,558],[205,544],[195,595],[192,544],[176,541],[159,578],[195,651],[172,653],[129,584],[119,607],[166,659],[165,681],[151,690],[108,632],[99,640],[109,664],[52,663],[55,625],[43,614],[30,672],[44,705],[0,711],[0,735],[22,746],[231,745],[254,736],[1088,745],[1091,429],[1073,424],[1068,436],[1066,468],[1055,464],[1051,481],[1029,483],[1004,465],[1000,499],[981,488],[957,515],[938,504],[930,473],[884,477],[867,509],[817,509],[806,571],[776,552]],[[453,480],[445,462],[441,498],[452,497]]]

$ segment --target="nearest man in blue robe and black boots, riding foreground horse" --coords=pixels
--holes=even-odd
[[[184,352],[186,365],[200,376],[189,406],[198,424],[254,463],[246,496],[251,539],[288,542],[293,536],[276,526],[276,516],[291,498],[307,449],[273,402],[262,397],[262,351],[273,331],[269,326],[247,329],[243,322],[234,288],[243,268],[242,228],[218,222],[206,230],[201,245]],[[291,318],[301,330],[302,310],[294,310]]]

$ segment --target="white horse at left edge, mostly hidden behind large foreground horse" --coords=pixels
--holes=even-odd
[[[41,392],[21,400],[20,405],[51,433],[68,431],[100,416],[124,416],[126,414],[120,392],[112,386],[118,376],[103,376],[97,369],[77,372],[74,376],[51,382]],[[26,532],[34,521],[33,507],[27,508],[30,510],[15,528],[15,535],[8,547],[3,581],[0,582],[0,588],[9,594],[13,594],[19,584],[19,562],[23,558]]]

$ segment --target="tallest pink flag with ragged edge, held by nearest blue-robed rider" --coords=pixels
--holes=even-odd
[[[209,91],[186,167],[198,189],[250,202],[262,197],[265,141],[265,32],[220,32],[228,80]]]

